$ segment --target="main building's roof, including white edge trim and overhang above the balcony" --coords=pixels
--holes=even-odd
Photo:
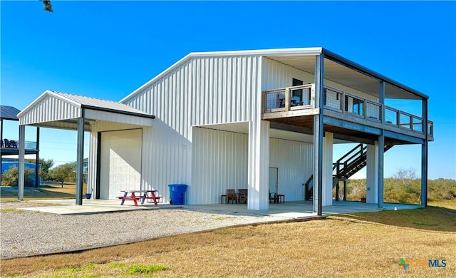
[[[180,59],[172,66],[162,71],[159,75],[147,81],[140,88],[136,89],[128,96],[125,96],[120,102],[127,101],[130,97],[135,96],[136,93],[142,89],[150,86],[151,83],[159,80],[163,76],[182,66],[191,58],[197,57],[210,57],[210,56],[264,56],[271,58],[274,61],[284,63],[288,66],[298,68],[301,71],[306,71],[314,74],[315,71],[315,56],[323,53],[324,60],[324,74],[325,78],[345,86],[354,88],[359,91],[369,93],[373,96],[378,96],[379,81],[384,81],[385,97],[386,98],[405,98],[405,99],[422,99],[428,98],[424,93],[414,90],[401,83],[393,81],[380,73],[371,71],[358,63],[354,63],[338,54],[328,51],[321,47],[313,48],[278,48],[278,49],[263,49],[263,50],[247,50],[247,51],[214,51],[214,52],[192,52],[184,58]]]

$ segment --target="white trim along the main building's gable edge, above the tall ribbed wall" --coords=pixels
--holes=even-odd
[[[311,48],[276,48],[276,49],[261,49],[261,50],[242,50],[242,51],[212,51],[212,52],[192,52],[187,54],[184,58],[180,59],[176,63],[172,64],[169,68],[165,71],[162,71],[159,75],[155,76],[154,78],[147,81],[144,85],[140,86],[140,88],[136,89],[132,93],[122,98],[119,102],[123,103],[128,101],[129,98],[135,96],[136,93],[142,91],[147,86],[150,86],[153,82],[159,80],[163,76],[166,76],[171,71],[174,71],[175,68],[178,68],[183,63],[185,63],[190,58],[197,58],[197,57],[224,57],[224,56],[308,56],[308,55],[320,55],[323,51],[321,47],[311,47]]]

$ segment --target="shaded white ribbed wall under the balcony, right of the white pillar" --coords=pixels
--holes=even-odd
[[[313,173],[312,144],[271,138],[269,167],[279,168],[279,194],[286,200],[304,200],[304,186]]]

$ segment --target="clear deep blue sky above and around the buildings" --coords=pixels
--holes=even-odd
[[[24,109],[46,89],[119,101],[195,51],[323,46],[430,96],[429,177],[456,179],[454,1],[51,3],[0,2],[3,105]],[[14,123],[4,137],[17,137]],[[41,129],[43,158],[66,163],[75,149],[76,133]],[[396,146],[385,176],[420,173],[420,157]]]

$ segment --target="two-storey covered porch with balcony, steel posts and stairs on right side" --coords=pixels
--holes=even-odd
[[[314,172],[306,182],[306,199],[313,198],[314,211],[321,215],[332,202],[333,186],[366,165],[368,202],[383,208],[383,155],[399,144],[421,145],[425,206],[427,142],[433,140],[428,97],[323,48],[291,52],[264,56],[261,120],[267,122],[265,133],[267,125],[281,125],[312,135]],[[347,164],[356,162],[353,168],[339,160],[333,164],[336,140],[361,145],[347,156]]]

